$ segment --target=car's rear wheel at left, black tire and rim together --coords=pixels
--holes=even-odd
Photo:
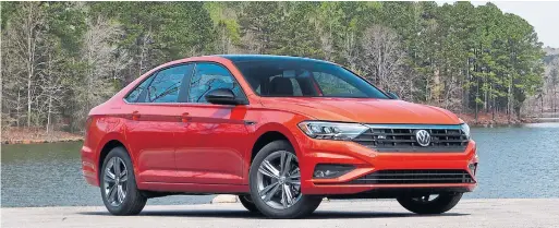
[[[99,181],[102,203],[112,215],[137,215],[146,205],[147,197],[137,189],[132,160],[123,147],[109,152]]]

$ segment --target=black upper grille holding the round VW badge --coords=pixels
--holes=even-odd
[[[463,152],[467,146],[467,136],[460,125],[433,128],[429,125],[369,125],[354,142],[378,152]],[[430,134],[430,143],[422,146],[415,133],[425,130]]]

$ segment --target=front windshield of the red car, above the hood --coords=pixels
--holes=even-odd
[[[235,62],[251,87],[269,97],[381,98],[387,95],[342,67],[312,60]]]

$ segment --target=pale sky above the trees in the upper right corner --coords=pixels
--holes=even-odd
[[[454,1],[437,1],[439,4]],[[483,5],[489,1],[472,1]],[[537,33],[544,47],[559,48],[559,1],[490,1],[506,13],[514,13],[526,20]]]

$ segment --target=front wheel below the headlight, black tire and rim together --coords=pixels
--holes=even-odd
[[[271,164],[274,166],[274,161],[277,161],[278,156],[280,161],[285,161],[284,167],[288,167],[287,169],[281,169],[281,163],[276,165],[276,167],[279,168],[276,170],[278,171],[276,173],[279,173],[279,176],[276,176],[278,178],[275,179],[259,171],[260,166],[265,166],[263,164]],[[285,159],[283,159],[284,157]],[[291,161],[288,163],[288,159],[290,159]],[[263,169],[266,168],[263,167]],[[283,170],[287,171],[282,172]],[[297,176],[299,191],[296,191]],[[253,164],[251,165],[251,171],[248,173],[248,177],[251,197],[253,199],[254,205],[256,206],[256,208],[258,208],[258,211],[262,214],[266,215],[269,218],[305,217],[311,215],[318,207],[318,205],[320,205],[320,202],[323,201],[321,196],[304,195],[301,193],[301,175],[299,171],[299,159],[296,158],[293,147],[287,141],[274,141],[264,146],[258,152],[258,154],[256,154],[256,157],[254,158]],[[269,188],[269,191],[266,191],[268,192],[268,194],[259,196],[259,191],[266,189],[264,187],[265,183],[268,183],[266,187],[272,185],[277,188]],[[291,195],[292,197],[289,197],[287,192],[289,192],[289,195]],[[265,201],[265,199],[263,197],[267,199],[268,195],[270,195],[270,200]],[[287,202],[288,200],[282,200],[284,195],[284,199],[291,199],[291,203]]]

